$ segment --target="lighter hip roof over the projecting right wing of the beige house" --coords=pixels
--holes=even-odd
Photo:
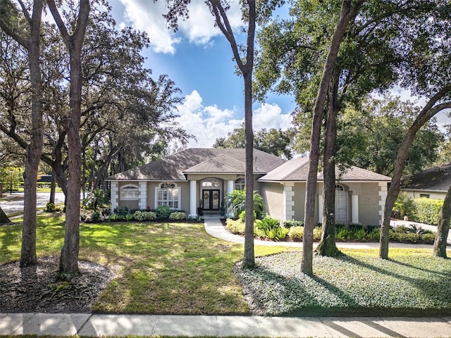
[[[264,182],[304,182],[309,174],[309,158],[295,158],[271,170],[270,173],[261,177],[259,181]],[[340,181],[390,181],[391,178],[372,171],[354,167],[347,169],[340,175],[340,170],[335,168],[335,176]],[[323,180],[323,173],[318,173],[318,180]]]

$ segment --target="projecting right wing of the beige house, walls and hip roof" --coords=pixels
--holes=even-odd
[[[307,168],[306,168],[307,167]],[[268,214],[281,220],[304,220],[308,159],[288,161],[261,177]],[[380,225],[390,177],[352,167],[335,184],[336,223]],[[323,215],[323,183],[316,185],[315,220]]]

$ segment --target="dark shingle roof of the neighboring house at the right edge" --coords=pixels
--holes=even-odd
[[[438,165],[402,179],[402,189],[446,192],[451,186],[451,163]]]

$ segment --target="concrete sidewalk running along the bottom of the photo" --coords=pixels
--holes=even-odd
[[[211,337],[451,337],[450,318],[0,313],[0,334]]]

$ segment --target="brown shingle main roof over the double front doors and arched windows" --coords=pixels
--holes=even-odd
[[[265,174],[281,158],[254,149],[254,173]],[[186,180],[185,173],[245,173],[245,149],[190,148],[159,161],[126,170],[106,180]]]

